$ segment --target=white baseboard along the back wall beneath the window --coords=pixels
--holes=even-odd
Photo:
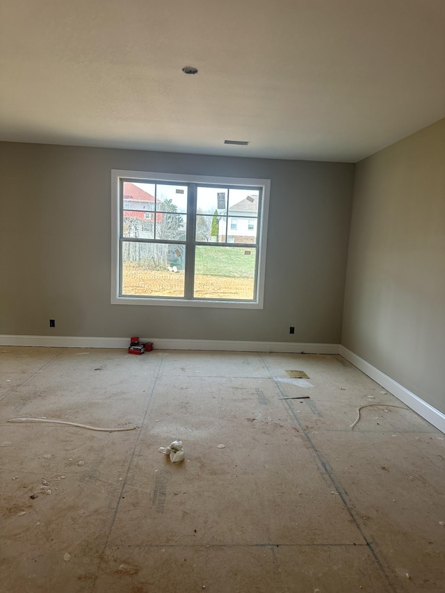
[[[156,350],[227,350],[234,352],[293,352],[339,354],[339,344],[259,342],[238,340],[179,340],[140,338],[153,342]],[[129,338],[90,338],[81,336],[0,335],[0,346],[43,346],[49,348],[128,348]]]

